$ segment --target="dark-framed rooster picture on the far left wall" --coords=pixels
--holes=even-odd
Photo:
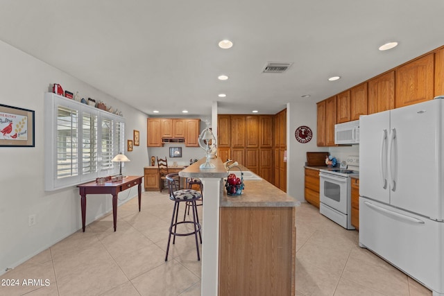
[[[35,147],[35,111],[0,104],[0,147]]]

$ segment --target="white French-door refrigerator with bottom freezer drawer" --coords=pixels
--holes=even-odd
[[[359,245],[444,295],[444,100],[359,119]]]

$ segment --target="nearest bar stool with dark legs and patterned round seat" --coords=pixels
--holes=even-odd
[[[169,199],[174,201],[174,208],[173,208],[173,216],[171,216],[171,225],[169,227],[167,254],[165,254],[165,261],[168,261],[168,252],[169,252],[169,244],[171,241],[171,235],[174,236],[174,238],[173,238],[173,244],[174,244],[174,243],[176,243],[176,236],[190,236],[192,234],[194,234],[194,237],[196,238],[197,260],[200,261],[197,234],[199,234],[200,243],[202,243],[202,235],[200,234],[200,223],[199,223],[199,217],[198,217],[198,213],[197,213],[196,200],[202,198],[202,195],[198,191],[192,190],[192,189],[178,190],[178,184],[177,184],[178,176],[179,176],[178,173],[171,173],[166,176],[167,182],[168,182]],[[193,220],[192,221],[185,221],[185,219],[184,219],[182,222],[178,222],[180,202],[185,202],[185,204],[187,204],[189,202],[191,204],[191,209],[193,212]],[[176,231],[176,229],[179,224],[193,225],[194,232],[178,233]]]

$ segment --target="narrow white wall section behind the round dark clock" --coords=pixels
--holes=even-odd
[[[328,151],[327,147],[316,146],[316,103],[287,104],[287,193],[297,200],[304,198],[304,166],[307,152]],[[294,132],[300,125],[308,126],[313,139],[308,143],[296,141]]]

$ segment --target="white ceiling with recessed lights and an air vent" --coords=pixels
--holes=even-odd
[[[275,114],[442,46],[443,12],[443,0],[1,0],[0,40],[149,116],[209,115],[214,101]],[[293,64],[262,73],[267,62]]]

